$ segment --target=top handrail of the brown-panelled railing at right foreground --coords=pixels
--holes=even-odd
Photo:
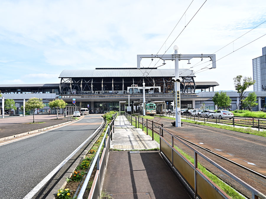
[[[160,132],[161,131],[166,131],[168,133],[168,135],[171,135],[172,137],[172,142],[173,139],[178,140],[179,142],[181,142],[182,144],[184,144],[186,147],[188,147],[189,149],[191,149],[192,151],[194,151],[195,157],[194,157],[194,170],[196,170],[197,167],[195,167],[195,165],[197,165],[197,154],[200,155],[202,158],[204,158],[205,160],[207,160],[208,162],[210,162],[212,165],[214,165],[215,167],[217,167],[219,170],[221,170],[222,172],[226,173],[229,177],[233,178],[234,180],[236,180],[236,182],[238,182],[239,184],[243,185],[245,188],[247,188],[249,191],[252,192],[252,198],[256,198],[255,196],[261,198],[261,199],[266,199],[266,196],[262,193],[260,193],[258,190],[256,190],[255,188],[253,188],[252,186],[250,186],[249,184],[247,184],[246,182],[244,182],[243,180],[241,180],[239,177],[233,175],[231,172],[229,172],[228,170],[226,170],[225,168],[223,168],[222,166],[218,165],[216,162],[214,162],[213,160],[211,160],[210,158],[208,158],[207,156],[205,156],[204,154],[202,154],[201,152],[199,152],[197,149],[194,149],[192,146],[190,146],[189,144],[186,144],[184,141],[182,141],[181,139],[179,139],[178,137],[176,137],[174,134],[170,133],[169,131],[167,131],[165,128],[159,126],[160,128]],[[164,139],[163,134],[160,134],[160,137],[165,141],[168,142],[166,139]],[[171,149],[176,150],[173,147],[173,143],[170,145]],[[196,170],[197,171],[197,170]],[[195,193],[196,194],[196,193]]]

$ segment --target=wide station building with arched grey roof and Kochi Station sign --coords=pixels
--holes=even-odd
[[[47,114],[50,110],[48,103],[54,99],[63,99],[68,106],[73,106],[72,98],[76,99],[76,105],[89,106],[94,112],[104,113],[110,110],[124,111],[130,106],[139,111],[138,105],[143,101],[143,83],[145,83],[145,99],[158,104],[157,111],[164,108],[173,109],[174,101],[174,69],[157,68],[96,68],[95,70],[63,70],[59,75],[59,83],[56,84],[7,84],[0,85],[1,95],[5,99],[14,99],[17,114],[22,114],[20,107],[23,99],[42,98],[45,104],[43,109],[36,113]],[[194,72],[189,69],[179,69],[181,108],[215,109],[212,97],[215,94],[214,87],[217,82],[197,82]],[[200,91],[200,92],[196,92]],[[265,92],[256,92],[261,102],[257,108],[265,104]],[[239,103],[236,92],[227,93],[232,99],[232,110]],[[1,98],[1,97],[0,97]],[[1,107],[0,101],[0,107]],[[123,102],[123,103],[119,103]],[[254,110],[255,110],[254,109]],[[62,110],[61,110],[62,111]],[[54,110],[51,112],[54,113]]]

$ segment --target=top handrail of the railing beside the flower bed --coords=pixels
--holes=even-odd
[[[92,172],[93,172],[93,168],[94,168],[94,166],[95,166],[95,164],[96,164],[96,161],[97,161],[97,164],[99,165],[99,159],[100,159],[100,151],[101,151],[101,148],[102,148],[103,144],[105,144],[104,147],[106,147],[106,134],[108,134],[108,137],[107,137],[107,138],[110,139],[110,135],[111,135],[111,133],[113,132],[113,128],[114,128],[113,123],[114,123],[114,121],[115,121],[115,119],[116,119],[116,117],[117,117],[117,113],[113,114],[112,117],[113,117],[113,119],[112,119],[112,121],[110,122],[110,124],[112,124],[112,127],[111,127],[112,129],[110,130],[110,124],[108,124],[108,127],[107,127],[107,129],[106,129],[106,131],[105,131],[105,134],[104,134],[104,136],[103,136],[104,139],[102,139],[102,142],[100,143],[100,146],[99,146],[99,148],[98,148],[98,150],[97,150],[97,152],[96,152],[96,154],[95,154],[95,156],[94,156],[93,162],[92,162],[92,164],[90,165],[90,169],[89,169],[88,174],[87,174],[87,176],[86,176],[86,178],[85,178],[85,180],[84,180],[84,183],[83,183],[83,185],[82,185],[82,187],[81,187],[81,189],[80,189],[80,193],[79,193],[79,195],[77,196],[77,199],[82,199],[82,198],[83,198],[83,195],[84,195],[85,190],[86,190],[86,188],[87,188],[87,184],[88,184],[88,182],[89,182],[89,180],[90,180],[91,174],[92,174]],[[100,165],[99,165],[99,166],[100,166]]]

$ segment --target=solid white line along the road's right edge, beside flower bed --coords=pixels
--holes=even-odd
[[[102,118],[103,120],[103,118]],[[103,120],[104,121],[104,120]],[[102,121],[102,124],[98,127],[98,129],[100,129],[100,127],[103,125],[103,121]],[[61,169],[61,167],[64,166],[64,164],[67,163],[67,161],[73,157],[73,155],[75,153],[77,153],[78,150],[80,150],[80,148],[96,133],[96,131],[98,131],[98,129],[96,129],[93,134],[88,138],[86,139],[82,144],[80,144],[79,147],[77,147],[77,149],[75,149],[66,159],[63,160],[63,162],[61,162],[56,168],[54,168],[41,182],[39,182],[38,185],[36,185],[33,190],[31,190],[23,199],[30,199],[32,198],[45,184],[46,182],[48,182],[51,177],[53,177],[53,175],[59,171],[59,169]]]

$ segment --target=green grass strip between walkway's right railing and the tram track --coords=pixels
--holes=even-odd
[[[171,118],[171,117],[166,117],[166,116],[160,116],[160,117],[175,120],[175,118]],[[132,118],[132,125],[136,126],[136,123],[135,123],[135,121],[133,121],[133,118]],[[138,126],[138,122],[137,122],[137,126]],[[142,124],[140,124],[140,128],[142,128]],[[145,132],[147,132],[146,127],[144,127],[143,130]],[[149,133],[149,131],[150,131],[150,133]],[[152,136],[152,131],[150,129],[148,129],[148,135]],[[155,139],[155,136],[156,136],[156,139]],[[160,135],[157,133],[154,133],[154,140],[160,144]],[[194,165],[194,158],[193,157],[186,154],[183,150],[179,149],[176,145],[174,145],[174,148],[177,151],[179,151],[182,155],[184,155],[184,157],[186,157]],[[220,187],[231,198],[233,198],[233,199],[245,199],[245,197],[240,195],[235,189],[233,189],[232,187],[227,185],[225,182],[220,180],[220,178],[218,178],[215,174],[208,171],[204,166],[202,166],[200,164],[200,162],[198,162],[198,168],[202,173],[204,173],[210,180],[212,180],[218,187]]]

